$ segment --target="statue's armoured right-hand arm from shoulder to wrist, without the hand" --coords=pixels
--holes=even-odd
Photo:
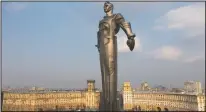
[[[134,39],[135,34],[132,32],[131,24],[129,22],[126,22],[124,17],[120,13],[116,14],[115,20],[116,23],[126,33],[128,39]]]

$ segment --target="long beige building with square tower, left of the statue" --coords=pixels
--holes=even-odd
[[[95,81],[87,81],[86,90],[29,92],[4,92],[3,111],[38,111],[98,109],[100,92],[95,90]]]

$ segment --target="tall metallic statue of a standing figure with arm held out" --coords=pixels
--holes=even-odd
[[[135,34],[132,33],[131,25],[120,14],[113,14],[113,4],[104,3],[106,16],[99,22],[97,32],[97,49],[100,55],[100,67],[102,75],[103,109],[114,111],[117,109],[117,37],[119,29],[127,35],[127,46],[132,51],[135,46]]]

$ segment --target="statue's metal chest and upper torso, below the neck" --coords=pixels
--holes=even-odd
[[[112,16],[105,16],[99,22],[99,33],[101,36],[115,36],[119,31],[119,26],[116,24],[115,14]]]

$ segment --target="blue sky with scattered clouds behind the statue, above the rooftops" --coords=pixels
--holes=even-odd
[[[97,42],[104,3],[8,2],[2,10],[3,85],[101,87]],[[195,2],[113,3],[132,24],[136,48],[118,34],[118,81],[133,87],[205,83],[205,5]]]

